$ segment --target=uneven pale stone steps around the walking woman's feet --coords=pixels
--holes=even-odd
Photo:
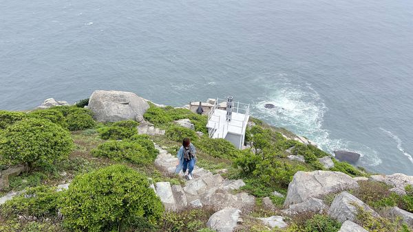
[[[156,145],[159,150],[155,164],[166,172],[175,173],[178,158]],[[184,187],[172,185],[169,182],[158,182],[153,187],[160,197],[165,209],[178,211],[185,207],[214,207],[217,210],[225,207],[249,209],[255,205],[254,196],[245,192],[233,194],[233,190],[240,189],[245,183],[242,180],[229,180],[220,174],[213,174],[209,170],[195,165],[192,172],[193,179],[187,181]],[[183,176],[181,173],[180,176]]]

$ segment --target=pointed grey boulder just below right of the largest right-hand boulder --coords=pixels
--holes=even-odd
[[[371,212],[372,216],[379,217],[379,214],[373,209],[348,192],[342,192],[332,200],[328,215],[339,222],[345,222],[346,220],[354,222],[357,216],[357,207],[355,205],[362,207],[365,211]]]

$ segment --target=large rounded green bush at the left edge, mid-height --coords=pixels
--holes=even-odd
[[[8,126],[0,138],[0,157],[10,165],[53,163],[74,148],[67,130],[46,119],[23,119]]]

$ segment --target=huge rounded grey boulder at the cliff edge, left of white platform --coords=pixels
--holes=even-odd
[[[90,96],[88,108],[96,121],[140,121],[149,104],[135,93],[98,90]]]

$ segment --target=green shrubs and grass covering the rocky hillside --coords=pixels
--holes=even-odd
[[[136,121],[96,123],[92,111],[83,108],[88,102],[30,113],[0,111],[0,169],[19,163],[30,166],[30,172],[11,177],[10,187],[0,192],[25,191],[0,206],[0,231],[211,232],[206,223],[215,209],[189,207],[165,212],[149,187],[162,181],[184,183],[178,175],[154,165],[158,150],[153,144],[155,141],[175,155],[184,137],[191,138],[196,147],[196,165],[225,178],[242,178],[246,185],[237,191],[257,197],[255,208],[243,215],[244,222],[237,229],[271,231],[256,218],[274,216],[283,208],[285,197],[273,196],[273,192],[285,196],[296,172],[326,170],[318,159],[330,156],[316,146],[295,141],[288,130],[252,117],[255,126],[248,126],[247,148],[237,150],[229,141],[208,137],[206,115],[153,104],[144,118],[166,134],[138,135]],[[178,119],[190,119],[195,130],[174,124]],[[306,162],[287,159],[290,154],[304,156]],[[363,169],[332,160],[332,171],[368,176]],[[69,189],[56,192],[56,185],[69,182]],[[405,188],[406,196],[399,196],[383,183],[359,181],[359,185],[351,194],[379,213],[394,206],[413,211],[411,186]],[[264,207],[262,198],[266,196],[275,211]],[[330,194],[324,201],[333,198]],[[400,219],[373,218],[364,211],[359,211],[357,220],[368,231],[408,231]],[[324,214],[304,213],[286,221],[288,227],[282,231],[330,232],[341,227]]]

